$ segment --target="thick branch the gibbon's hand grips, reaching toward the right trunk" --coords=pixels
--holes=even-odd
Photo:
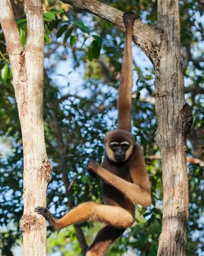
[[[125,26],[122,21],[122,14],[120,10],[117,10],[107,4],[103,4],[100,1],[92,0],[61,0],[63,3],[71,4],[73,7],[83,10],[85,12],[92,13],[102,19],[108,20],[117,28],[125,31]],[[142,48],[147,56],[150,56],[152,47],[160,44],[161,32],[156,27],[151,27],[147,24],[143,24],[140,20],[135,20],[133,27],[133,42]],[[156,49],[154,49],[156,51]]]

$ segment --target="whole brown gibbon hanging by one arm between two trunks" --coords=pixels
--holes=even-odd
[[[86,202],[71,209],[59,220],[54,220],[45,207],[35,209],[43,215],[56,230],[82,221],[105,223],[93,243],[87,249],[87,256],[101,256],[110,245],[130,227],[135,219],[135,204],[147,207],[151,204],[149,177],[143,152],[136,145],[131,134],[131,88],[132,36],[135,14],[124,13],[126,45],[119,87],[118,128],[105,136],[105,158],[102,166],[89,161],[87,169],[94,177],[101,179],[104,205]]]

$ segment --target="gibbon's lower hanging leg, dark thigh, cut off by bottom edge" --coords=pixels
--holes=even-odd
[[[92,244],[88,247],[86,256],[102,256],[111,244],[119,238],[125,229],[103,226]]]

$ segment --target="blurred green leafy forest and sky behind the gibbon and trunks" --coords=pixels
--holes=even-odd
[[[11,1],[22,44],[26,19],[22,1]],[[154,1],[101,1],[121,11],[133,10],[145,24],[155,24]],[[204,18],[203,0],[180,1],[182,62],[185,97],[194,116],[187,140],[189,173],[188,255],[204,255]],[[103,157],[103,136],[116,127],[119,72],[124,33],[109,22],[80,12],[68,4],[44,1],[45,81],[44,121],[48,158],[54,172],[48,186],[48,208],[56,218],[69,208],[94,200],[101,202],[99,180],[86,171],[89,159]],[[0,249],[18,255],[22,244],[23,211],[22,135],[12,83],[12,73],[2,30],[0,31]],[[161,162],[154,141],[157,128],[154,109],[154,68],[133,45],[133,133],[143,146],[152,189],[152,205],[136,207],[136,221],[116,241],[108,255],[156,255],[161,234],[163,195]],[[50,255],[80,255],[101,224],[84,223],[52,232],[48,227]],[[52,234],[51,234],[52,232]],[[85,241],[79,241],[79,237]],[[56,254],[53,254],[58,252]],[[127,253],[128,252],[128,253]]]

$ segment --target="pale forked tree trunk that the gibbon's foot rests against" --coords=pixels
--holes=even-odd
[[[13,71],[24,149],[24,215],[21,227],[24,255],[47,255],[45,218],[34,213],[46,206],[47,184],[52,172],[43,127],[44,26],[40,0],[26,0],[27,41],[23,49],[9,0],[0,1],[0,21]]]

